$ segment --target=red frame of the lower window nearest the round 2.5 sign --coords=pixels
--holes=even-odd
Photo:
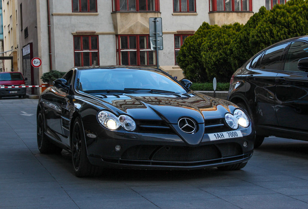
[[[88,37],[89,38],[89,49],[84,49],[83,48],[83,38],[84,37]],[[96,43],[97,43],[97,49],[92,49],[92,41],[91,38],[92,37],[96,37]],[[75,39],[79,38],[80,39],[80,49],[76,49],[75,48]],[[85,66],[84,65],[84,53],[85,52],[89,52],[89,63],[92,64],[93,60],[92,60],[92,53],[97,52],[97,63],[96,65],[99,65],[99,42],[98,42],[98,35],[74,35],[73,36],[73,44],[74,44],[74,66],[75,67],[81,67],[81,66]],[[76,65],[76,53],[81,53],[81,57],[80,57],[80,66]],[[87,65],[86,65],[87,66]]]

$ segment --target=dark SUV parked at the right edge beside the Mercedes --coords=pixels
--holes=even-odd
[[[253,56],[232,75],[228,100],[251,116],[255,148],[269,135],[308,141],[308,36]]]

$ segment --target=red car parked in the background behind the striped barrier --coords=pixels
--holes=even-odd
[[[19,72],[3,72],[0,73],[0,87],[6,86],[25,86],[23,75]],[[2,97],[18,96],[26,97],[26,88],[0,88],[0,99]]]

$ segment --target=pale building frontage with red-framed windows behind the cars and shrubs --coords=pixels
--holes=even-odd
[[[193,35],[204,21],[212,25],[245,24],[261,6],[270,9],[276,3],[284,3],[283,0],[1,1],[6,6],[14,4],[14,8],[3,10],[3,15],[9,15],[12,21],[4,23],[4,46],[13,49],[10,53],[16,53],[18,66],[13,69],[26,75],[29,85],[41,84],[41,75],[50,70],[67,71],[74,66],[156,66],[156,53],[151,51],[149,37],[150,17],[162,18],[164,48],[158,55],[160,68],[181,79],[177,53],[185,38]],[[7,12],[11,15],[4,14]],[[14,33],[13,25],[17,26],[18,44],[5,38]],[[35,57],[42,60],[38,68],[31,66]],[[40,92],[36,89],[29,93]]]

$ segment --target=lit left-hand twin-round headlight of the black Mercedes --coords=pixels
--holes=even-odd
[[[135,121],[126,115],[120,115],[119,117],[108,111],[100,111],[97,115],[99,122],[110,130],[116,130],[120,125],[126,131],[134,131],[136,129]]]

